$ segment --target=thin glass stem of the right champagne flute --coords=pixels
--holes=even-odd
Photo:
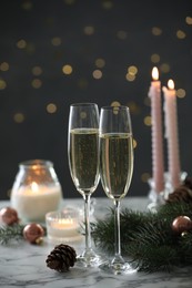
[[[114,251],[115,257],[121,256],[121,236],[120,236],[120,200],[114,200]]]

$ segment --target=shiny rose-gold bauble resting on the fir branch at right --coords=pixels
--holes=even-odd
[[[189,232],[192,229],[192,220],[188,216],[179,216],[173,220],[172,229],[176,234]]]

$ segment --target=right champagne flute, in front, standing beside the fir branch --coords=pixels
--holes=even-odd
[[[112,274],[134,272],[121,256],[120,202],[127,195],[133,173],[133,138],[129,107],[105,106],[101,109],[100,176],[107,196],[114,203],[115,254],[111,261],[100,266]]]

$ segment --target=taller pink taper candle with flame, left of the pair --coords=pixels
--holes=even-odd
[[[163,163],[163,140],[162,140],[162,114],[161,114],[161,83],[159,71],[152,70],[153,81],[151,82],[149,97],[151,99],[151,125],[152,125],[152,177],[154,191],[160,193],[164,189],[164,163]]]

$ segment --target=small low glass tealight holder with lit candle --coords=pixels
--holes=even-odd
[[[53,243],[69,243],[82,239],[79,213],[72,208],[50,212],[46,215],[48,239]]]

